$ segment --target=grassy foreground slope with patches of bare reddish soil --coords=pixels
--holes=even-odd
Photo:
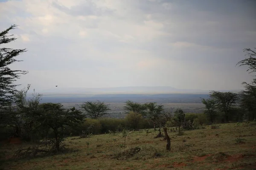
[[[3,144],[3,170],[256,170],[256,123],[221,124],[212,129],[185,131],[183,136],[168,132],[166,140],[157,131],[95,135],[66,140],[77,151],[33,159],[13,159],[18,147],[28,144]],[[75,138],[75,139],[74,139]],[[124,147],[126,146],[126,148]],[[137,153],[129,150],[140,147]],[[1,169],[0,168],[0,169]]]

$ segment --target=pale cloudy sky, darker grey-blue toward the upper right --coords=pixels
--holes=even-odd
[[[255,0],[0,0],[0,31],[26,48],[21,88],[242,89],[253,77]],[[1,46],[2,47],[2,46]]]

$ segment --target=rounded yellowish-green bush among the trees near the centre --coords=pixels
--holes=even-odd
[[[130,112],[125,117],[127,127],[138,130],[143,121],[143,116],[140,113]]]

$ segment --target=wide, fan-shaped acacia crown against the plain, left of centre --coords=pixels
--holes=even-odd
[[[87,115],[92,119],[98,119],[105,114],[108,114],[107,111],[110,111],[109,105],[106,105],[104,102],[96,100],[96,102],[87,101],[81,105],[81,108],[86,111]]]

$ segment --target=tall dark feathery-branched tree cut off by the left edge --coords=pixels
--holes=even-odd
[[[15,29],[16,25],[12,25],[6,30],[0,32],[0,45],[15,41],[17,38],[8,35],[9,31]],[[27,74],[27,71],[12,70],[9,65],[20,62],[15,59],[18,55],[25,52],[26,49],[0,48],[0,111],[8,108],[13,102],[13,96],[17,90],[17,85],[14,82],[22,74]],[[3,117],[3,116],[0,116]]]

